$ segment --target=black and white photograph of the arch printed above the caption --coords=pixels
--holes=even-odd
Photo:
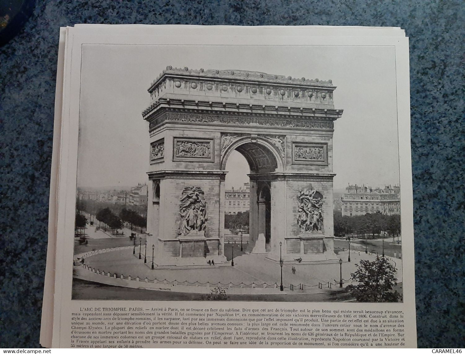
[[[73,300],[403,302],[394,46],[81,58]]]

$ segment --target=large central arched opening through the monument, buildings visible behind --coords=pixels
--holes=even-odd
[[[222,167],[228,171],[224,199],[226,257],[239,256],[240,251],[246,250],[270,252],[271,184],[254,175],[279,169],[275,153],[264,144],[245,141],[226,151]],[[246,220],[247,226],[244,225]]]

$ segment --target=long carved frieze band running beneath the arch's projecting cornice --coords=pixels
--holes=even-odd
[[[318,121],[313,119],[266,118],[259,116],[224,116],[209,114],[191,114],[168,112],[150,123],[150,130],[164,122],[196,123],[196,124],[225,124],[225,125],[258,125],[269,127],[290,127],[306,129],[334,129],[332,121]]]

